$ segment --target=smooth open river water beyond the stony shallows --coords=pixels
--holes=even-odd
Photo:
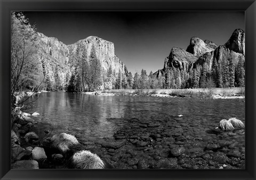
[[[30,98],[34,101],[38,96]],[[141,123],[166,123],[207,136],[223,118],[245,121],[245,106],[239,99],[193,99],[128,96],[94,96],[81,93],[47,92],[32,102],[40,116],[37,121],[51,123],[58,132],[81,134],[85,139],[113,139],[114,133],[133,118]],[[242,107],[242,108],[241,108]],[[179,118],[178,115],[183,117]],[[167,127],[167,126],[166,126]]]

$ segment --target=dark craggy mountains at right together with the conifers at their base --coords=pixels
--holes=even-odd
[[[225,45],[193,37],[187,50],[173,47],[164,68],[154,74],[165,77],[165,88],[241,87],[245,78],[245,32],[236,29]]]

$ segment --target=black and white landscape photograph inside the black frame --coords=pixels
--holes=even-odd
[[[10,15],[12,169],[245,169],[244,11]]]

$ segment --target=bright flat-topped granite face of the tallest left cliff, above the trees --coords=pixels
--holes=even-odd
[[[75,54],[77,48],[79,52],[86,50],[87,59],[90,56],[92,47],[94,46],[96,50],[96,55],[100,59],[101,65],[105,71],[108,70],[109,66],[112,66],[112,70],[116,73],[119,72],[119,69],[122,73],[125,73],[125,66],[121,60],[115,55],[115,47],[113,42],[106,41],[99,37],[90,36],[86,39],[77,41],[75,44],[68,45],[70,55]],[[127,70],[126,70],[127,71]]]

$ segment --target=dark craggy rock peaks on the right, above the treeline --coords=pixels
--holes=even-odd
[[[193,37],[190,39],[187,51],[173,47],[170,55],[164,60],[164,68],[155,72],[154,75],[157,75],[158,78],[171,69],[173,72],[179,70],[180,74],[187,73],[188,77],[192,79],[193,73],[198,71],[196,67],[199,66],[199,68],[207,68],[207,73],[212,73],[214,78],[214,73],[223,71],[221,66],[230,65],[230,67],[236,68],[239,61],[245,62],[244,46],[245,32],[241,29],[236,29],[227,43],[221,46],[209,40],[203,41]],[[184,80],[186,81],[186,78]],[[216,80],[214,79],[214,81]]]

